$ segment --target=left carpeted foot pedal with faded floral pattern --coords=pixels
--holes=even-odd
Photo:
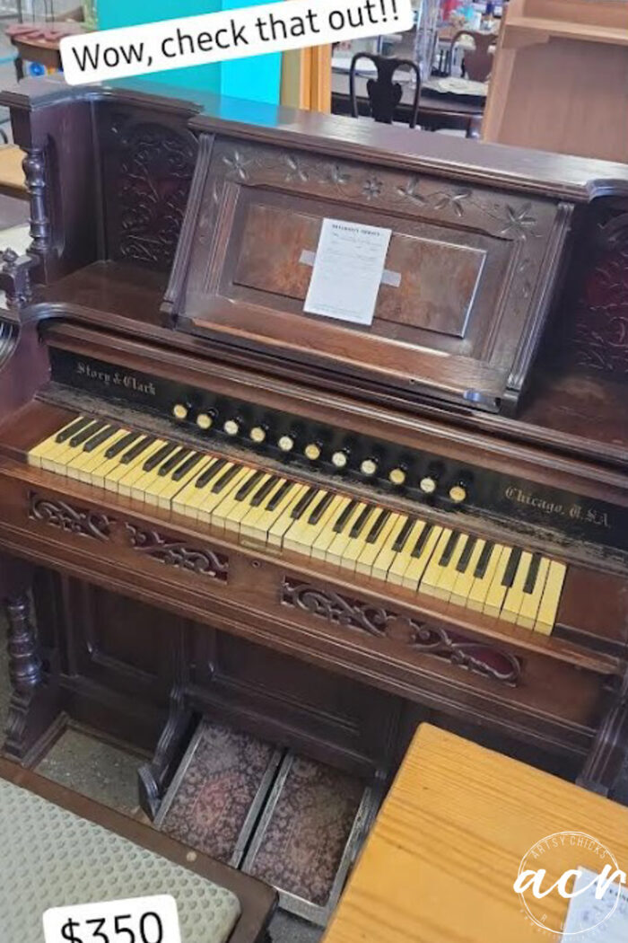
[[[155,827],[238,868],[281,761],[282,750],[203,718]]]

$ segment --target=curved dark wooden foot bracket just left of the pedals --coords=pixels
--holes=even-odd
[[[170,692],[168,720],[159,737],[153,759],[137,770],[139,804],[149,816],[156,816],[164,793],[183,758],[192,733],[192,711],[186,707],[185,693],[180,685]]]

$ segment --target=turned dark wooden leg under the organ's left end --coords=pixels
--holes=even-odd
[[[27,766],[39,756],[38,745],[58,718],[58,698],[42,663],[37,629],[31,619],[29,571],[20,563],[2,563],[11,687],[4,753]]]

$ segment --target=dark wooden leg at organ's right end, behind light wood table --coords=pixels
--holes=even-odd
[[[578,785],[608,796],[617,783],[627,754],[628,670],[593,741]]]

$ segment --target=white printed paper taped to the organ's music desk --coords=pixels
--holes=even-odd
[[[303,310],[354,324],[373,323],[391,232],[323,220]]]

